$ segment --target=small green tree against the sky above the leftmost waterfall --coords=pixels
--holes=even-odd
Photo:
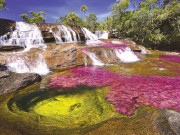
[[[23,22],[27,22],[27,23],[44,23],[46,21],[46,19],[44,17],[42,17],[41,15],[44,15],[45,12],[41,11],[41,12],[34,12],[34,11],[29,11],[29,13],[31,13],[31,15],[33,16],[32,18],[30,16],[28,16],[27,14],[21,14],[20,17],[23,19]]]

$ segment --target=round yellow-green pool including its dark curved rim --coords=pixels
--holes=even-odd
[[[39,86],[0,97],[0,128],[22,134],[84,134],[120,116],[105,98],[107,87],[58,92]]]

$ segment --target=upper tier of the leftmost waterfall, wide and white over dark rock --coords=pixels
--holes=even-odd
[[[8,32],[1,36],[0,45],[23,46],[26,50],[38,47],[46,48],[41,31],[37,25],[24,22],[16,22],[16,28],[13,32]]]

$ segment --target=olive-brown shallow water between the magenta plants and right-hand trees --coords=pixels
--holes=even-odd
[[[176,71],[180,68],[179,63],[159,60],[158,56],[159,55],[157,54],[149,54],[145,59],[136,63],[120,63],[118,65],[110,65],[103,68],[125,75],[180,75],[180,72]]]

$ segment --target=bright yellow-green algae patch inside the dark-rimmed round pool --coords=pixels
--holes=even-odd
[[[87,127],[113,117],[113,106],[105,99],[108,88],[83,88],[73,93],[56,93],[56,96],[42,100],[29,109],[57,120],[64,128]]]

